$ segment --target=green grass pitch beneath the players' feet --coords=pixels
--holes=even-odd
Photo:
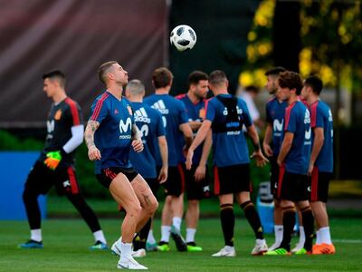
[[[101,219],[111,244],[119,236],[118,219]],[[331,219],[334,256],[252,257],[252,231],[238,216],[235,226],[237,257],[211,254],[223,247],[218,219],[202,219],[196,233],[201,253],[179,253],[171,242],[168,253],[151,252],[140,262],[153,271],[351,271],[360,269],[362,219]],[[159,220],[155,222],[159,238]],[[116,271],[118,257],[110,251],[90,251],[90,230],[81,219],[48,219],[43,222],[43,249],[19,249],[28,238],[25,221],[0,222],[0,271]],[[271,244],[273,238],[267,236]],[[296,238],[293,239],[296,242]]]

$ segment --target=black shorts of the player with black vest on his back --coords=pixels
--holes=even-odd
[[[249,163],[214,166],[214,194],[225,195],[251,191]]]

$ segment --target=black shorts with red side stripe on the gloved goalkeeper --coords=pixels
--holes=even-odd
[[[75,195],[80,193],[74,167],[60,166],[50,170],[43,161],[37,160],[30,170],[25,188],[36,194],[45,195],[55,186],[60,195]]]

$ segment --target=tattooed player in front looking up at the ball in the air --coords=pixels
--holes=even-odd
[[[117,62],[100,65],[100,81],[107,87],[93,102],[85,130],[90,160],[95,160],[97,179],[113,199],[126,210],[121,238],[115,243],[120,251],[118,268],[148,269],[131,256],[132,240],[157,209],[158,203],[145,180],[129,162],[129,151],[142,151],[130,102],[122,96],[128,73]],[[113,247],[112,247],[113,248]]]

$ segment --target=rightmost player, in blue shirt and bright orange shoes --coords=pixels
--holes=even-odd
[[[322,89],[323,83],[320,78],[312,75],[304,81],[301,96],[310,106],[313,141],[308,170],[311,176],[310,207],[318,227],[313,254],[334,254],[336,248],[330,238],[326,208],[329,180],[333,172],[333,117],[329,105],[319,98]]]

